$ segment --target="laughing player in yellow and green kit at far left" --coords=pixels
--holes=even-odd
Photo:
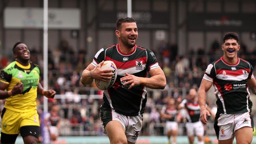
[[[39,83],[40,69],[30,62],[26,44],[17,42],[13,55],[15,61],[0,72],[0,99],[6,98],[1,115],[1,144],[14,144],[19,133],[24,144],[36,144],[40,133],[37,94],[54,98],[56,92],[43,89]]]

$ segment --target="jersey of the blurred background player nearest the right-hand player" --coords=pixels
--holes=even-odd
[[[192,101],[184,99],[180,105],[185,107],[187,110],[187,121],[188,122],[198,122],[200,119],[200,106],[198,101]]]

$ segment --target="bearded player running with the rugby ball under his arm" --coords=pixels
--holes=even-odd
[[[111,70],[101,70],[103,61],[111,60],[117,66],[117,80],[104,90],[100,119],[111,144],[133,144],[141,131],[142,114],[147,102],[147,89],[164,89],[163,70],[154,53],[135,44],[138,28],[133,18],[119,18],[115,35],[119,44],[100,49],[93,62],[82,73],[83,84],[93,79],[109,81]],[[147,78],[147,72],[150,78]]]

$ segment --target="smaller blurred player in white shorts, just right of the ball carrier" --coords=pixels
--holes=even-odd
[[[178,115],[177,105],[175,99],[169,97],[166,106],[163,106],[161,110],[161,118],[165,120],[165,129],[168,137],[169,144],[176,144],[176,137],[178,135],[178,120],[176,116]],[[171,136],[172,142],[171,142]]]

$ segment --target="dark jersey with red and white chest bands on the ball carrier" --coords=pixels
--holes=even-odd
[[[102,106],[111,107],[117,113],[126,116],[143,114],[147,102],[147,90],[143,85],[137,85],[128,90],[130,85],[123,85],[126,81],[120,78],[128,74],[138,77],[147,77],[147,72],[159,68],[154,53],[151,50],[135,45],[134,50],[124,54],[119,49],[119,44],[109,48],[100,49],[91,63],[96,66],[101,61],[113,61],[117,66],[117,79],[114,85],[104,90]]]

